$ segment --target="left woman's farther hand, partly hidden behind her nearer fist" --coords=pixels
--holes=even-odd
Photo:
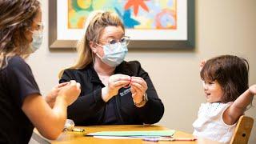
[[[63,86],[66,86],[69,82],[60,83],[52,88],[49,94],[46,95],[45,100],[48,105],[53,108],[56,98],[58,96],[58,91],[62,89]]]

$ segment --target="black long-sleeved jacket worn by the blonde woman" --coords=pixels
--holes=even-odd
[[[114,124],[153,124],[164,113],[164,106],[154,89],[149,74],[137,61],[122,62],[116,67],[115,74],[126,74],[143,78],[148,86],[148,102],[138,108],[134,106],[130,87],[121,88],[118,95],[108,102],[102,100],[102,88],[105,87],[98,78],[92,64],[81,70],[65,70],[60,83],[75,80],[81,84],[82,92],[78,99],[68,107],[68,118],[78,126],[114,125]]]

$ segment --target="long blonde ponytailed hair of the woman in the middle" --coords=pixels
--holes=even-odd
[[[94,62],[94,54],[90,49],[90,42],[98,42],[102,30],[104,30],[106,26],[121,26],[122,30],[125,30],[122,20],[118,17],[118,14],[114,12],[97,10],[88,16],[85,23],[85,34],[77,45],[78,60],[73,66],[67,69],[79,70],[85,68],[91,62]],[[58,78],[62,77],[64,70],[60,71]]]

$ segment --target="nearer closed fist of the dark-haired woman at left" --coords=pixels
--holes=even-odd
[[[58,92],[58,97],[63,98],[66,104],[70,106],[81,92],[80,83],[71,80],[66,86],[63,86]]]

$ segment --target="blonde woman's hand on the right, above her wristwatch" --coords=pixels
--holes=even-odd
[[[140,77],[132,77],[130,86],[130,92],[132,94],[134,102],[142,102],[144,94],[146,93],[147,90],[146,81]]]

